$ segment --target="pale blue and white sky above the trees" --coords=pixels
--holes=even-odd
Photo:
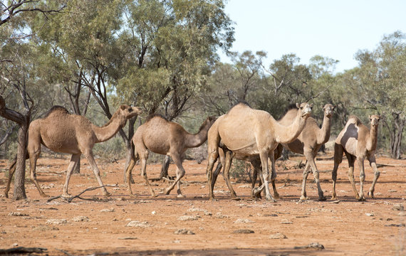
[[[375,50],[384,35],[406,33],[405,0],[229,0],[225,12],[235,22],[231,50],[264,50],[267,68],[296,53],[306,65],[314,55],[340,60],[335,71],[342,72],[358,65],[358,50]]]

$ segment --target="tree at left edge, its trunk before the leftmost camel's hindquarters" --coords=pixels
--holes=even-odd
[[[31,45],[30,17],[41,14],[46,20],[60,12],[64,1],[9,1],[1,2],[0,21],[0,115],[19,125],[14,200],[26,198],[24,188],[26,164],[26,139],[28,125],[35,105],[34,95],[40,87],[33,70],[38,63],[38,50]],[[20,99],[20,100],[16,100]],[[6,101],[7,100],[7,101]],[[12,103],[12,108],[10,104]]]

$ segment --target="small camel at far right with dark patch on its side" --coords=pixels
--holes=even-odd
[[[372,167],[375,177],[373,183],[368,192],[368,196],[374,198],[373,192],[375,191],[375,183],[378,181],[380,172],[376,167],[375,161],[375,149],[378,141],[378,125],[380,116],[373,114],[370,116],[370,129],[361,123],[360,119],[355,116],[350,116],[347,124],[345,124],[344,129],[338,134],[337,139],[335,139],[334,145],[334,169],[332,172],[333,178],[333,196],[332,199],[337,199],[335,193],[335,182],[337,181],[337,169],[338,165],[343,161],[343,153],[347,156],[348,166],[350,170],[348,171],[348,178],[350,178],[351,185],[355,193],[355,198],[359,201],[365,201],[363,185],[365,181],[364,172],[364,159],[368,159],[370,166]],[[357,188],[355,188],[354,181],[354,162],[355,159],[358,161],[358,166],[360,167],[360,193],[358,193]]]

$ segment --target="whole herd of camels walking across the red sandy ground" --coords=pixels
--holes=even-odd
[[[185,170],[182,166],[182,155],[189,148],[197,147],[206,142],[208,144],[207,157],[207,180],[209,185],[209,199],[214,199],[214,183],[217,180],[219,171],[223,170],[224,180],[229,187],[231,199],[238,199],[229,180],[229,170],[233,158],[249,161],[254,167],[254,174],[251,184],[251,196],[259,198],[261,191],[265,191],[267,201],[275,201],[279,198],[276,191],[275,161],[281,156],[282,149],[288,149],[306,157],[306,166],[303,171],[303,185],[300,200],[306,200],[306,179],[310,171],[313,171],[317,188],[318,200],[326,200],[320,186],[319,174],[314,161],[320,147],[328,142],[330,138],[331,118],[334,106],[326,104],[323,107],[324,118],[321,128],[315,119],[311,117],[313,105],[303,102],[301,105],[291,107],[288,112],[279,120],[274,119],[268,112],[255,110],[248,104],[241,102],[231,107],[227,114],[216,117],[207,117],[197,134],[190,134],[182,126],[170,122],[160,115],[148,117],[144,124],[136,130],[132,137],[134,155],[130,161],[125,178],[128,191],[132,195],[131,175],[136,162],[140,160],[141,174],[145,183],[150,189],[151,196],[156,196],[147,178],[147,158],[149,151],[157,154],[171,156],[177,166],[176,180],[166,188],[165,193],[169,194],[177,186],[177,196],[182,197],[180,190],[180,179],[184,176]],[[95,143],[105,142],[112,138],[125,126],[127,119],[141,114],[137,107],[121,105],[113,117],[103,127],[92,124],[88,119],[77,114],[70,114],[61,106],[54,106],[43,118],[31,122],[28,129],[27,159],[30,160],[30,177],[41,196],[46,193],[41,190],[36,180],[36,161],[41,153],[41,144],[52,151],[72,154],[71,162],[66,171],[66,181],[63,186],[63,197],[69,197],[68,183],[71,174],[78,165],[80,155],[83,154],[93,169],[95,178],[103,188],[103,195],[110,193],[103,186],[100,178],[100,171],[93,156]],[[347,124],[335,139],[334,146],[334,168],[332,171],[333,195],[336,199],[335,183],[337,179],[338,165],[343,159],[343,154],[348,159],[350,167],[348,177],[353,186],[355,198],[365,201],[363,193],[363,182],[365,181],[364,159],[368,159],[375,172],[372,186],[368,196],[373,198],[375,183],[380,176],[375,162],[375,149],[377,146],[378,124],[380,117],[373,114],[370,116],[370,129],[360,122],[360,119],[351,116]],[[247,125],[249,124],[249,125]],[[355,188],[354,162],[358,159],[360,169],[360,191]],[[214,164],[217,162],[217,168]],[[271,164],[271,166],[269,166]],[[16,169],[16,160],[10,165],[9,179],[4,195],[8,197],[11,178]],[[271,169],[271,174],[270,170]],[[256,178],[259,176],[259,186],[256,186]],[[274,196],[269,189],[271,181]]]

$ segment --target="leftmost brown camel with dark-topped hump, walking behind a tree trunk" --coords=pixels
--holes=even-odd
[[[66,171],[66,181],[63,186],[62,196],[68,197],[68,183],[73,169],[75,169],[80,155],[84,154],[100,186],[103,182],[100,178],[100,171],[93,157],[93,146],[95,143],[105,142],[113,137],[122,127],[127,119],[140,114],[137,107],[121,105],[113,117],[103,127],[92,124],[87,118],[78,114],[69,114],[68,110],[61,106],[54,106],[45,117],[31,122],[28,128],[27,159],[30,159],[31,180],[35,184],[41,196],[46,193],[41,190],[36,180],[36,161],[41,154],[41,144],[52,151],[72,154],[71,162]],[[5,196],[8,196],[11,178],[16,170],[16,161],[10,166],[9,181],[7,183]],[[109,196],[108,191],[103,187],[103,194]]]

